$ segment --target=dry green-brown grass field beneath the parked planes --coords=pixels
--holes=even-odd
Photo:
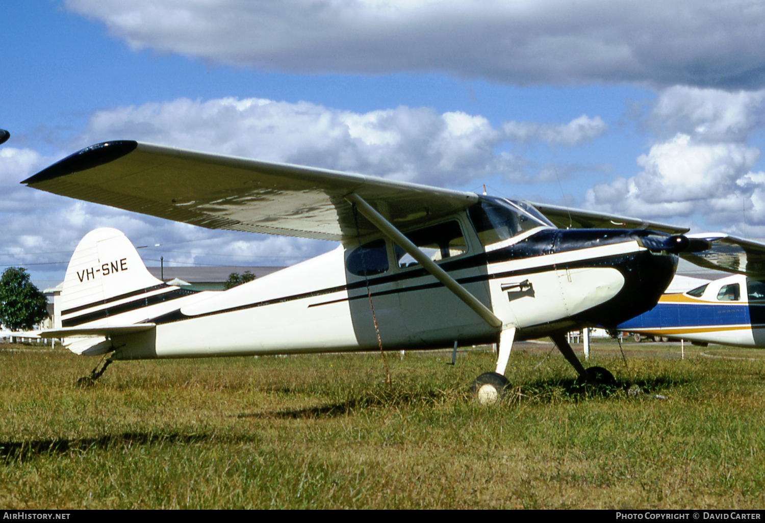
[[[0,506],[765,506],[760,352],[597,344],[601,397],[527,347],[487,408],[490,351],[389,354],[390,386],[373,354],[116,362],[81,389],[96,359],[0,346]]]

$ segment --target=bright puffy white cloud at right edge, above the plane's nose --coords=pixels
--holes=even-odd
[[[591,187],[584,206],[765,235],[765,176],[754,171],[760,149],[750,143],[763,117],[765,90],[665,89],[649,118],[658,141],[636,158],[642,170]]]

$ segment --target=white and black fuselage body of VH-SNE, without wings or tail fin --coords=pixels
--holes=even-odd
[[[634,234],[541,229],[441,267],[504,326],[516,326],[516,339],[615,326],[653,306],[677,263],[640,247]],[[340,246],[229,291],[163,301],[148,317],[142,309],[155,330],[112,336],[114,359],[376,349],[375,325],[384,349],[496,342],[500,330],[422,267],[390,263],[365,278],[347,270],[352,253]],[[119,316],[110,319],[126,323]]]

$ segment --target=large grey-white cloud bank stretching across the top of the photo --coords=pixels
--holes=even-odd
[[[746,0],[64,3],[134,49],[269,70],[441,70],[519,85],[765,80],[765,6]]]

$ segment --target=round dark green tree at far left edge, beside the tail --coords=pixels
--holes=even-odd
[[[0,323],[10,330],[32,330],[47,315],[47,298],[21,267],[8,267],[0,277]]]

